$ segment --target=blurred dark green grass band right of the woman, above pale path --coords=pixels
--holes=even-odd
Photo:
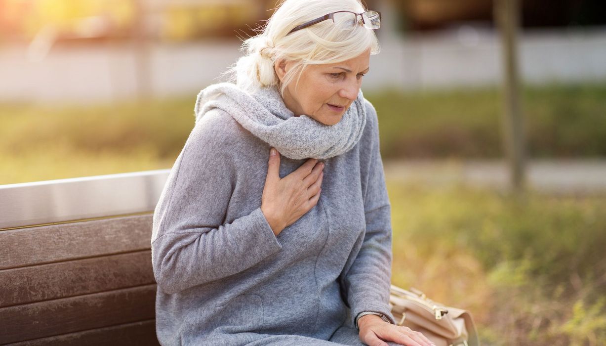
[[[365,93],[377,109],[386,158],[502,156],[498,90]],[[606,83],[524,89],[531,157],[606,155]]]

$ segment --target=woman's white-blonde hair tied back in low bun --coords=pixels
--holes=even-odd
[[[239,58],[229,71],[231,80],[238,81],[249,90],[273,86],[279,87],[280,92],[284,93],[287,84],[305,66],[341,63],[356,58],[368,49],[371,55],[379,53],[379,41],[374,30],[363,25],[344,30],[327,19],[287,36],[297,25],[336,11],[362,13],[365,8],[360,0],[282,1],[262,32],[242,44],[241,50],[246,55]],[[274,69],[274,64],[279,60],[294,63],[282,83]]]

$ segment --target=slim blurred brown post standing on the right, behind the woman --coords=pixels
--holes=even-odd
[[[519,0],[493,0],[494,19],[501,33],[503,66],[502,135],[510,166],[511,186],[516,192],[525,188],[526,140],[518,72]]]

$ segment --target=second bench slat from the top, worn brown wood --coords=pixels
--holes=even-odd
[[[155,283],[151,251],[0,270],[0,307]]]

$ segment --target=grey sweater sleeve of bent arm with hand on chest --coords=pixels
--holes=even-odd
[[[225,222],[236,183],[225,141],[235,134],[206,117],[187,139],[154,212],[153,273],[167,294],[247,270],[282,248],[260,204]]]

